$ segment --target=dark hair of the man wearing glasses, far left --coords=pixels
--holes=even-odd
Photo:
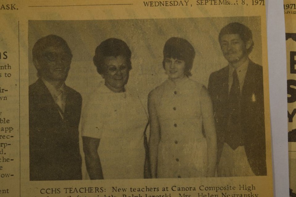
[[[64,46],[66,52],[68,54],[70,54],[71,57],[72,57],[72,52],[71,52],[71,49],[69,48],[67,42],[63,38],[61,38],[60,36],[50,34],[50,35],[47,35],[45,37],[40,38],[34,44],[33,49],[32,49],[33,61],[38,60],[41,53],[46,48],[51,47],[51,46]],[[40,71],[39,70],[37,70],[37,76],[38,77],[40,76]]]

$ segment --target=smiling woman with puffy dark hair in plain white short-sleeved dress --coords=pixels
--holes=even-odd
[[[131,70],[125,42],[109,38],[93,62],[105,79],[82,112],[82,139],[90,179],[144,178],[144,130],[148,123],[138,94],[125,88]]]

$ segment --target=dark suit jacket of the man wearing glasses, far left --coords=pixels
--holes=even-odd
[[[41,79],[29,86],[30,180],[81,179],[81,95],[66,86],[64,119]]]

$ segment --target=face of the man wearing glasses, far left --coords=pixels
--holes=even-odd
[[[41,77],[51,81],[65,81],[71,60],[72,55],[66,46],[49,46],[41,52],[35,66]]]

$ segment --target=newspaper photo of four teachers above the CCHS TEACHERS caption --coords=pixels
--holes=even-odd
[[[261,38],[259,16],[29,20],[30,181],[266,176]]]

